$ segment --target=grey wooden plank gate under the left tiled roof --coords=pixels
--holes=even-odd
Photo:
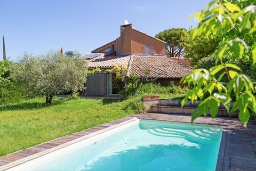
[[[85,94],[84,96],[104,96],[105,93],[105,74],[95,73],[93,75],[88,75],[85,83]]]

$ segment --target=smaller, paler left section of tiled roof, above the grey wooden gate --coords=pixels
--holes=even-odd
[[[109,68],[113,66],[128,66],[131,55],[128,56],[97,56],[89,61],[89,68]]]

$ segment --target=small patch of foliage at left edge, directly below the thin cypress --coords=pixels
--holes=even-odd
[[[11,72],[12,62],[4,60],[0,61],[0,84],[3,82],[9,82],[11,80],[10,72]]]

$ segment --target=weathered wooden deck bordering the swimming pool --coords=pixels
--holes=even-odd
[[[17,151],[0,157],[0,170],[5,170],[11,165],[19,163],[21,160],[30,160],[35,156],[39,157],[46,151],[63,148],[75,140],[81,141],[90,136],[107,131],[107,129],[126,123],[132,118],[167,120],[190,122],[191,117],[185,115],[165,115],[160,113],[145,113],[133,115],[102,124],[97,127],[85,129],[84,131],[60,137],[49,142],[45,142],[31,148]],[[244,128],[236,118],[215,118],[199,117],[194,123],[212,124],[223,127],[219,157],[216,170],[256,170],[256,125],[252,122]]]

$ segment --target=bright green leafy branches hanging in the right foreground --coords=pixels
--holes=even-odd
[[[256,112],[256,100],[253,95],[256,87],[242,69],[233,63],[241,59],[256,62],[255,1],[213,0],[206,10],[193,15],[199,21],[198,27],[193,31],[193,38],[201,32],[205,32],[206,37],[217,38],[221,35],[222,38],[214,52],[215,66],[209,70],[195,69],[190,75],[182,78],[181,83],[193,85],[182,100],[182,106],[188,100],[203,100],[192,113],[194,120],[207,112],[214,118],[222,103],[228,112],[238,110],[238,117],[246,126],[250,118],[249,112],[252,111],[254,115]],[[229,60],[223,61],[227,57]],[[228,78],[227,82],[221,81],[224,76]],[[210,96],[204,99],[206,93]],[[230,111],[231,94],[235,95],[235,102]]]

